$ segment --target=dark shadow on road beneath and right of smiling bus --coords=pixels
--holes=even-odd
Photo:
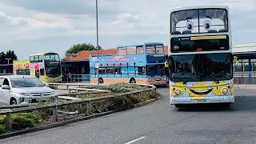
[[[206,111],[229,111],[229,112],[256,112],[256,97],[254,96],[237,96],[235,97],[234,104],[231,104],[229,108],[218,104],[203,104],[203,105],[190,105],[186,108],[178,109],[174,111],[182,112],[206,112]]]

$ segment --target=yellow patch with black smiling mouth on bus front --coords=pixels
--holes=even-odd
[[[195,82],[194,85],[192,85],[192,88],[190,90],[190,97],[202,97],[204,98],[207,94],[213,90],[210,88],[209,85],[207,85],[206,82]]]

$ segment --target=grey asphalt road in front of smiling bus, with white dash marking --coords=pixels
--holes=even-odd
[[[0,140],[13,143],[254,143],[256,142],[255,90],[236,90],[229,110],[178,110],[170,106],[168,89],[148,106],[126,110],[33,134]]]

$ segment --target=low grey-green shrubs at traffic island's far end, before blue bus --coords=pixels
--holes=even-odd
[[[113,93],[126,93],[135,90],[146,90],[146,86],[138,86],[129,83],[115,83],[110,85],[98,86],[100,90],[111,90]]]

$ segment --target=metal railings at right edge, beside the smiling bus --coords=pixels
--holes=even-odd
[[[256,84],[256,72],[234,72],[234,87],[254,87]]]

